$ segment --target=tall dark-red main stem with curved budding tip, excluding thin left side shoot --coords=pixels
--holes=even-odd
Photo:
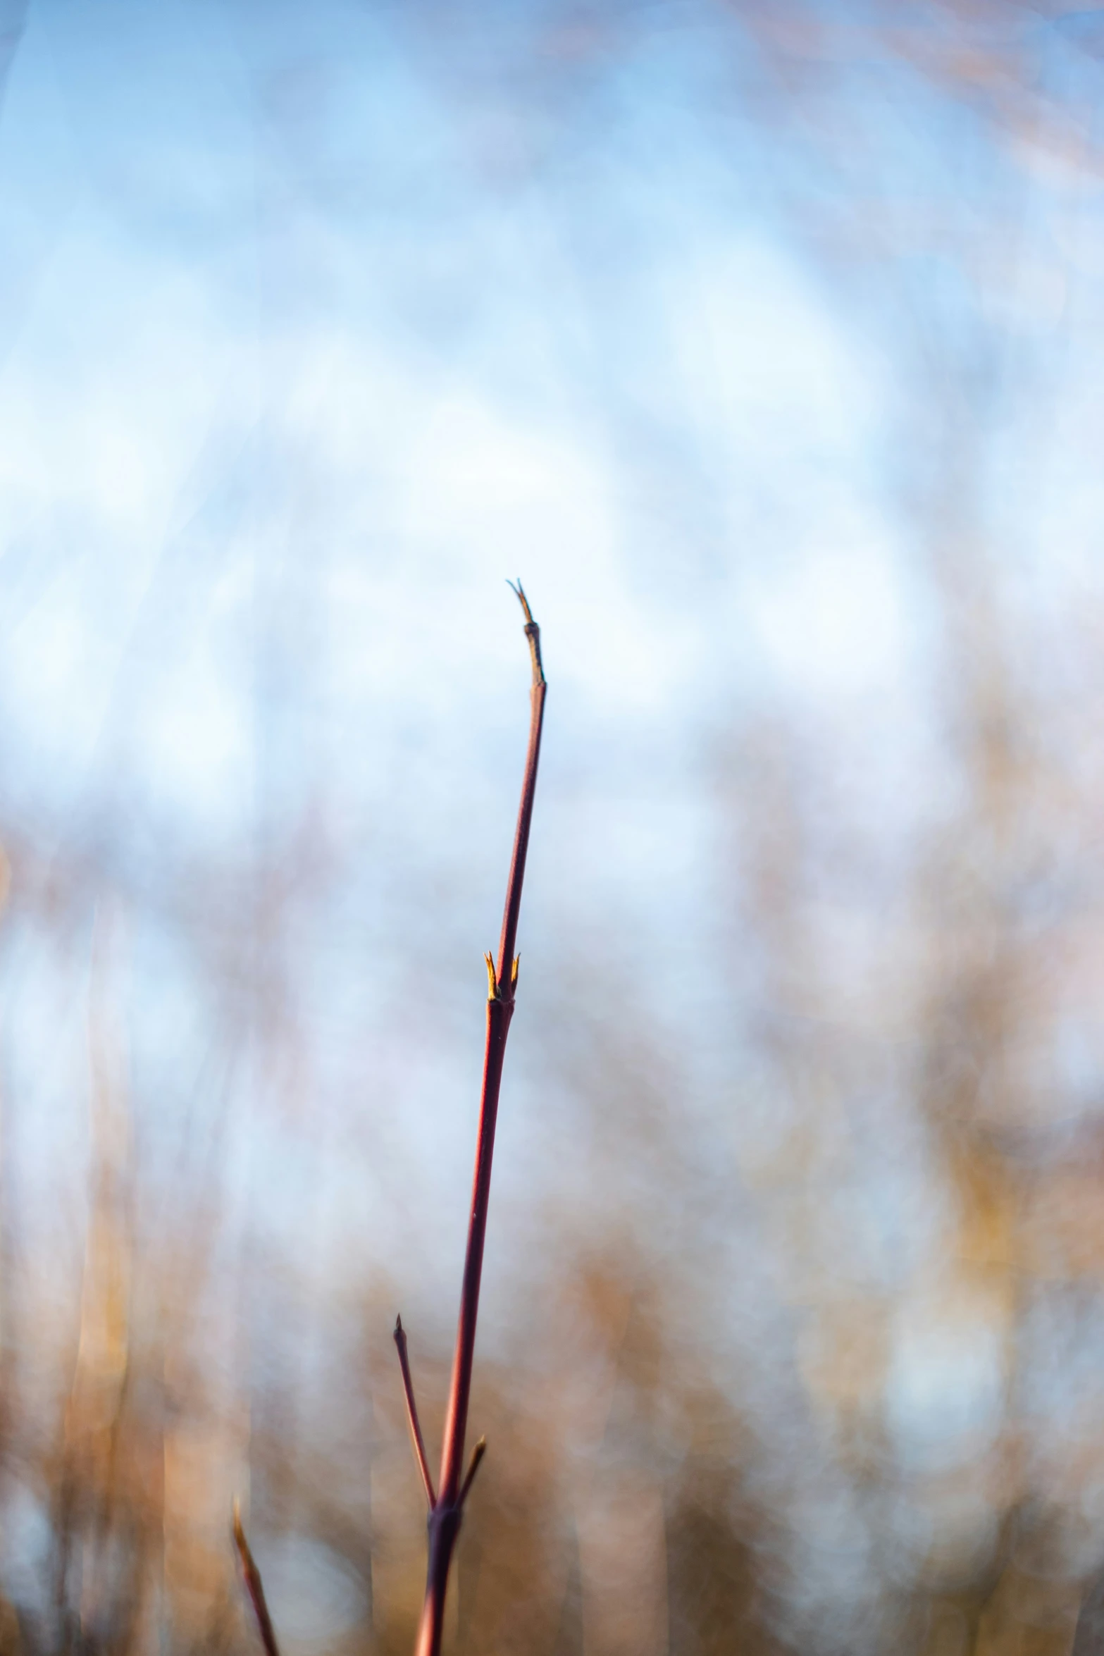
[[[518,960],[515,944],[518,936],[518,914],[521,911],[521,883],[525,879],[525,856],[530,845],[530,823],[533,820],[533,797],[536,793],[536,763],[541,750],[541,727],[545,722],[545,669],[541,666],[541,634],[521,583],[513,588],[525,611],[525,636],[530,641],[533,659],[533,689],[530,694],[530,745],[525,760],[525,780],[521,783],[521,805],[518,808],[518,828],[513,838],[513,856],[510,859],[510,879],[506,881],[506,903],[502,916],[502,937],[498,941],[498,960],[487,956],[487,1047],[483,1055],[483,1088],[480,1098],[478,1136],[475,1144],[475,1179],[472,1184],[472,1212],[468,1219],[468,1245],[463,1260],[463,1283],[460,1288],[460,1321],[457,1326],[457,1350],[452,1360],[452,1384],[449,1388],[449,1409],[445,1414],[445,1436],[440,1454],[440,1482],[437,1500],[429,1512],[429,1563],[425,1572],[425,1603],[419,1623],[415,1656],[439,1656],[440,1634],[445,1620],[445,1591],[449,1588],[449,1567],[460,1530],[460,1514],[463,1497],[470,1489],[475,1466],[460,1487],[463,1467],[463,1437],[468,1424],[468,1401],[472,1396],[472,1363],[475,1358],[475,1321],[478,1317],[478,1295],[483,1275],[483,1244],[487,1239],[487,1206],[490,1201],[490,1171],[495,1154],[495,1123],[498,1119],[498,1090],[502,1086],[502,1063],[506,1052],[506,1035],[513,1017],[513,997],[518,982]]]

